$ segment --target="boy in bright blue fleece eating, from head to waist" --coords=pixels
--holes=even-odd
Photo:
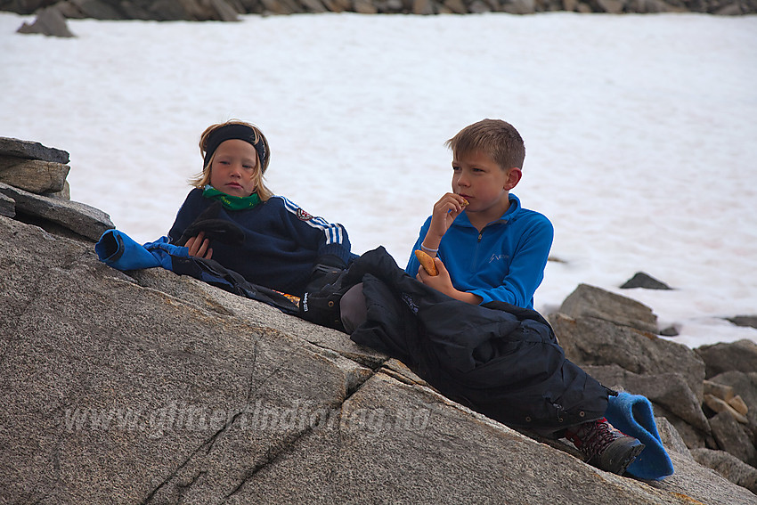
[[[533,309],[554,229],[509,192],[523,175],[523,138],[505,121],[484,119],[446,144],[452,192],[435,203],[413,247],[435,257],[439,275],[429,275],[414,254],[405,271],[469,304],[498,300]]]

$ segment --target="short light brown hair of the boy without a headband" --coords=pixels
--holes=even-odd
[[[523,168],[525,144],[515,126],[501,119],[483,119],[464,127],[444,143],[457,158],[475,151],[490,156],[502,170]]]

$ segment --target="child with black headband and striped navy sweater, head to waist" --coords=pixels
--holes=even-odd
[[[199,149],[203,169],[168,232],[172,244],[295,297],[354,257],[341,224],[265,187],[271,151],[256,126],[238,120],[208,126]]]

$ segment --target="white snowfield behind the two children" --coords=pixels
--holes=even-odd
[[[481,118],[525,138],[514,191],[556,229],[536,308],[585,282],[696,347],[757,330],[757,17],[303,14],[239,23],[0,13],[0,135],[69,151],[72,200],[167,233],[205,127],[260,126],[267,183],[404,266],[450,187],[444,141]],[[674,290],[618,289],[639,271]]]

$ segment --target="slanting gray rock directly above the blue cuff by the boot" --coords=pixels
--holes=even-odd
[[[644,395],[705,435],[710,433],[710,423],[704,417],[701,401],[691,391],[683,374],[668,372],[639,375],[618,365],[586,365],[583,369],[607,387],[619,386],[632,395]]]

